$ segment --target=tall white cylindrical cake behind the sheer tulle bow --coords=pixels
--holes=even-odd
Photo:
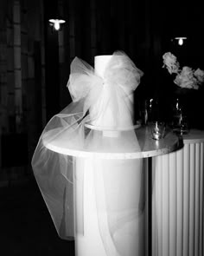
[[[115,58],[114,61],[118,66],[123,64],[124,56],[95,56],[94,58],[95,74],[104,79],[104,84],[99,99],[90,108],[91,124],[113,130],[130,128],[133,125],[133,95],[130,95],[129,90],[114,88],[114,85],[105,81],[105,69],[110,61],[112,62],[112,58]]]

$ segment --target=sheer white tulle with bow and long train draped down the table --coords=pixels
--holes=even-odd
[[[44,128],[32,167],[54,226],[67,240],[84,235],[84,178],[92,169],[99,232],[105,252],[115,256],[126,252],[122,227],[130,230],[133,220],[143,220],[142,154],[132,120],[132,93],[143,73],[124,53],[113,56],[103,77],[79,58],[73,60],[67,83],[73,102]],[[137,159],[125,160],[127,153],[138,153]],[[131,233],[137,232],[128,233],[127,241]]]

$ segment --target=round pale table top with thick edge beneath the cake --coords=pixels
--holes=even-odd
[[[59,154],[66,154],[76,157],[92,157],[100,159],[137,159],[152,157],[160,154],[170,153],[180,148],[179,138],[171,131],[167,132],[163,139],[156,141],[151,138],[150,128],[141,127],[135,130],[137,140],[141,148],[140,152],[97,152],[68,148],[67,143],[62,140],[53,140],[45,143],[45,147]]]

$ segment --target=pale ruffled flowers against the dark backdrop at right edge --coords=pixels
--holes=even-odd
[[[182,67],[177,62],[176,56],[167,52],[163,55],[163,68],[167,68],[169,74],[176,74],[175,84],[185,89],[199,89],[204,82],[204,71],[201,69],[191,69],[189,67]]]

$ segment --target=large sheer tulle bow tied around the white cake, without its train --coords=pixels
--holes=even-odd
[[[131,108],[127,106],[127,101],[132,104],[132,92],[137,88],[142,75],[143,72],[122,52],[115,52],[112,55],[103,77],[98,75],[92,66],[75,57],[71,64],[67,87],[73,102],[84,99],[84,115],[88,109],[99,103],[99,112],[103,111],[105,114],[105,108],[109,108],[115,116],[121,117],[118,103],[124,100],[126,108]],[[92,119],[99,118],[99,112],[92,115]]]

